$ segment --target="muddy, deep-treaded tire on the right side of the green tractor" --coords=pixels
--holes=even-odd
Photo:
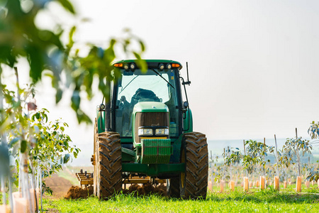
[[[181,173],[181,197],[206,199],[208,185],[206,136],[198,132],[185,133],[181,155],[181,162],[185,163],[185,173]]]

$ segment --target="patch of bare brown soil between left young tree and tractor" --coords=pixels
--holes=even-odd
[[[60,178],[57,174],[53,174],[51,178],[45,178],[45,185],[53,191],[51,199],[59,199],[67,195],[67,191],[72,187],[72,183],[65,178]]]

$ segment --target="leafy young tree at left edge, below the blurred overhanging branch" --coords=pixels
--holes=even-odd
[[[16,159],[19,168],[19,158],[23,153],[28,156],[29,173],[37,173],[35,168],[41,168],[43,178],[62,169],[62,164],[77,158],[79,148],[72,146],[71,138],[65,134],[67,124],[59,120],[48,121],[47,109],[37,110],[34,104],[33,86],[26,89],[18,87],[18,93],[6,89],[2,84],[2,94],[6,106],[2,110],[1,131],[8,137],[9,153]],[[7,152],[8,153],[8,152]],[[9,165],[9,160],[1,164]],[[17,169],[16,172],[19,170]],[[13,175],[18,184],[19,175]]]

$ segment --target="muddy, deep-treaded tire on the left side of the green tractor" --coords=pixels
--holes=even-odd
[[[116,132],[99,133],[97,142],[96,196],[103,200],[122,190],[120,135]]]

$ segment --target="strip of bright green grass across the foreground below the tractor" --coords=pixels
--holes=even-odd
[[[177,200],[150,195],[116,195],[111,200],[45,200],[60,212],[319,212],[319,195],[289,192],[214,192],[206,200]]]

